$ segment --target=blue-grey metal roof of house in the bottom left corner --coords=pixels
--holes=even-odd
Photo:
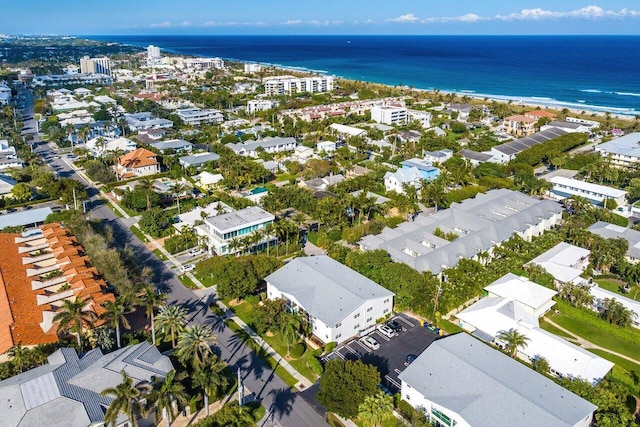
[[[147,341],[109,354],[96,348],[78,356],[73,348],[61,348],[46,364],[0,381],[2,425],[106,426],[105,412],[114,397],[100,393],[119,386],[123,372],[137,386],[162,379],[173,369],[169,357]],[[137,425],[153,425],[151,421]],[[109,425],[130,427],[132,423],[119,412]]]

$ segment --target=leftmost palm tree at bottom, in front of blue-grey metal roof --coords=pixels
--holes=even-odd
[[[114,398],[104,414],[105,424],[115,426],[118,421],[118,414],[122,412],[129,418],[131,426],[137,427],[138,416],[145,414],[142,401],[146,398],[150,389],[151,387],[146,383],[134,385],[133,378],[122,371],[122,382],[120,384],[100,392],[101,396]]]

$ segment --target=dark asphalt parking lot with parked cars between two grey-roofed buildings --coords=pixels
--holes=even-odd
[[[407,356],[419,355],[429,346],[438,335],[431,330],[421,327],[416,319],[404,314],[398,314],[391,318],[402,325],[402,331],[396,336],[388,338],[377,329],[367,336],[375,338],[380,348],[372,350],[364,345],[360,338],[355,338],[337,347],[333,352],[323,358],[323,362],[340,358],[343,360],[361,359],[365,363],[375,365],[380,371],[382,385],[392,393],[400,391],[398,375],[407,367]]]

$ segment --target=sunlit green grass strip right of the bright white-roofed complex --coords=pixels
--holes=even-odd
[[[634,344],[613,336],[610,333],[607,333],[606,327],[604,325],[610,325],[604,321],[602,321],[602,323],[604,324],[603,327],[599,328],[596,326],[597,323],[595,323],[595,320],[599,319],[594,319],[593,323],[587,323],[566,314],[566,312],[552,314],[550,318],[563,328],[586,340],[591,341],[596,345],[599,345],[600,347],[610,349],[634,359],[640,358],[640,341]]]

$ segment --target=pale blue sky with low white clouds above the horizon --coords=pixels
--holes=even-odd
[[[23,0],[4,34],[640,34],[637,0]]]

